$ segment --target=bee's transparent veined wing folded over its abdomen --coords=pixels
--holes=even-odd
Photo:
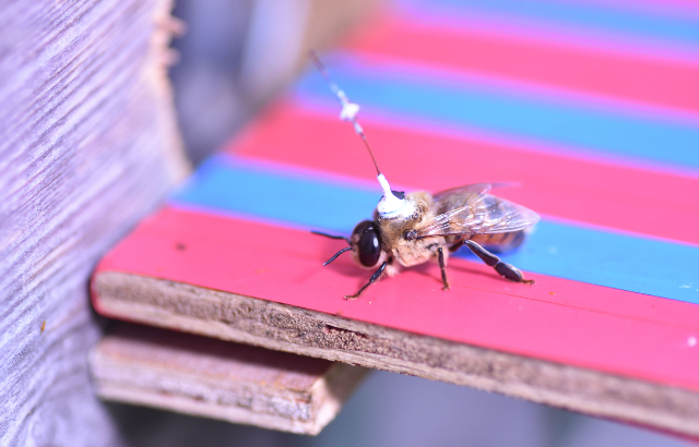
[[[458,203],[453,198],[451,202]],[[436,203],[435,209],[442,210],[442,204]],[[538,220],[538,215],[529,208],[494,195],[483,194],[475,201],[464,201],[462,206],[437,214],[430,222],[416,231],[415,238],[505,233],[523,230]]]

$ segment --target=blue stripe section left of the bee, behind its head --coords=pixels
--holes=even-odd
[[[174,196],[177,203],[335,232],[370,219],[379,198],[378,186],[333,182],[225,155],[203,162]]]

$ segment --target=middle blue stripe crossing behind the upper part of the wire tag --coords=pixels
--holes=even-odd
[[[438,70],[365,67],[344,57],[333,61],[337,83],[368,113],[523,138],[583,155],[611,154],[699,168],[699,119],[572,102],[477,77],[439,76]],[[296,93],[308,105],[337,107],[318,73],[304,76]]]

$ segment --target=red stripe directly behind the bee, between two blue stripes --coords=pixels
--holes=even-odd
[[[541,214],[699,244],[699,178],[520,150],[362,121],[394,186],[441,191],[477,182],[520,182],[498,195]],[[271,110],[228,148],[238,156],[376,182],[369,156],[346,123],[286,105]],[[463,170],[469,160],[472,169]],[[408,188],[410,186],[410,188]]]

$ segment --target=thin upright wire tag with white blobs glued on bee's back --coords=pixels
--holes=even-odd
[[[374,152],[371,150],[371,147],[369,146],[369,142],[367,141],[366,135],[364,134],[364,129],[362,129],[362,125],[359,125],[359,122],[357,121],[357,113],[359,112],[359,106],[354,102],[350,102],[347,95],[345,95],[345,93],[340,87],[337,87],[337,84],[335,84],[332,77],[330,77],[330,73],[328,72],[328,69],[325,69],[325,65],[323,65],[323,63],[320,61],[320,58],[318,57],[316,51],[310,50],[310,58],[316,64],[316,68],[318,68],[318,71],[320,72],[320,74],[322,74],[322,76],[325,78],[325,81],[330,85],[330,89],[332,90],[332,93],[334,93],[335,96],[337,96],[337,99],[340,99],[340,104],[342,104],[342,110],[340,111],[340,119],[343,121],[350,121],[352,123],[352,125],[354,126],[354,131],[357,133],[357,135],[362,137],[362,141],[364,141],[364,145],[369,150],[369,155],[371,155],[371,160],[374,161],[374,167],[376,168],[376,173],[378,176],[379,183],[381,184],[381,189],[383,190],[383,197],[381,197],[381,200],[379,201],[377,210],[379,212],[381,217],[384,217],[384,218],[393,218],[399,216],[411,215],[413,213],[413,209],[408,209],[405,206],[405,200],[401,194],[399,194],[401,195],[401,198],[396,197],[395,194],[393,194],[393,191],[391,191],[391,186],[389,185],[388,180],[386,180],[386,177],[383,177],[383,174],[379,170],[379,165],[376,162],[376,158],[374,157]]]

